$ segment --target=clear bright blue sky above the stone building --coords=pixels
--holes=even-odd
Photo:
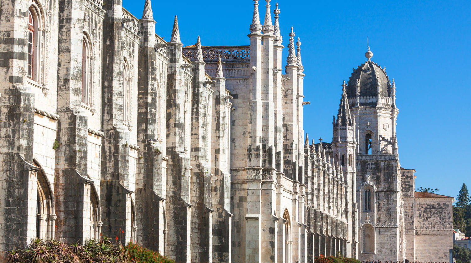
[[[272,12],[276,1],[271,2]],[[265,1],[259,2],[260,19]],[[309,140],[332,139],[341,83],[372,60],[396,82],[397,136],[402,167],[415,169],[416,187],[456,196],[471,187],[470,3],[435,1],[278,0],[283,45],[290,27],[301,40],[304,66],[304,130]],[[144,0],[123,0],[140,18]],[[253,1],[152,0],[155,31],[165,40],[178,15],[185,46],[201,36],[203,46],[248,45]],[[273,13],[272,13],[273,15]],[[286,57],[287,48],[284,50]],[[469,188],[471,190],[471,188]]]

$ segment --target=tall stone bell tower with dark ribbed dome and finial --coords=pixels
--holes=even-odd
[[[396,86],[365,53],[346,88],[356,121],[358,260],[403,260],[404,216],[396,140]]]

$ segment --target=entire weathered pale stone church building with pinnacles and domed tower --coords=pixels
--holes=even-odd
[[[33,237],[106,235],[177,263],[412,260],[418,239],[445,240],[429,211],[448,222],[450,199],[414,198],[378,65],[360,69],[377,90],[363,71],[343,83],[332,144],[309,143],[301,42],[291,28],[284,63],[270,0],[247,46],[184,47],[177,17],[166,42],[150,0],[141,19],[121,0],[0,8],[0,260]]]

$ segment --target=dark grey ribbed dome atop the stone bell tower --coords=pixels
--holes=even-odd
[[[356,97],[358,83],[360,86],[360,97],[376,97],[378,94],[378,83],[380,85],[380,96],[391,97],[391,85],[386,71],[372,61],[366,61],[356,70],[353,70],[347,87],[348,98]]]

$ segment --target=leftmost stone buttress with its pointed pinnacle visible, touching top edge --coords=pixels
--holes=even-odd
[[[163,106],[166,97],[167,59],[162,56],[166,44],[155,35],[150,0],[146,0],[139,20],[137,132],[141,155],[136,173],[137,242],[166,254],[166,138]],[[166,48],[165,48],[166,49]],[[159,55],[158,55],[159,54]],[[164,55],[164,54],[163,54]]]

